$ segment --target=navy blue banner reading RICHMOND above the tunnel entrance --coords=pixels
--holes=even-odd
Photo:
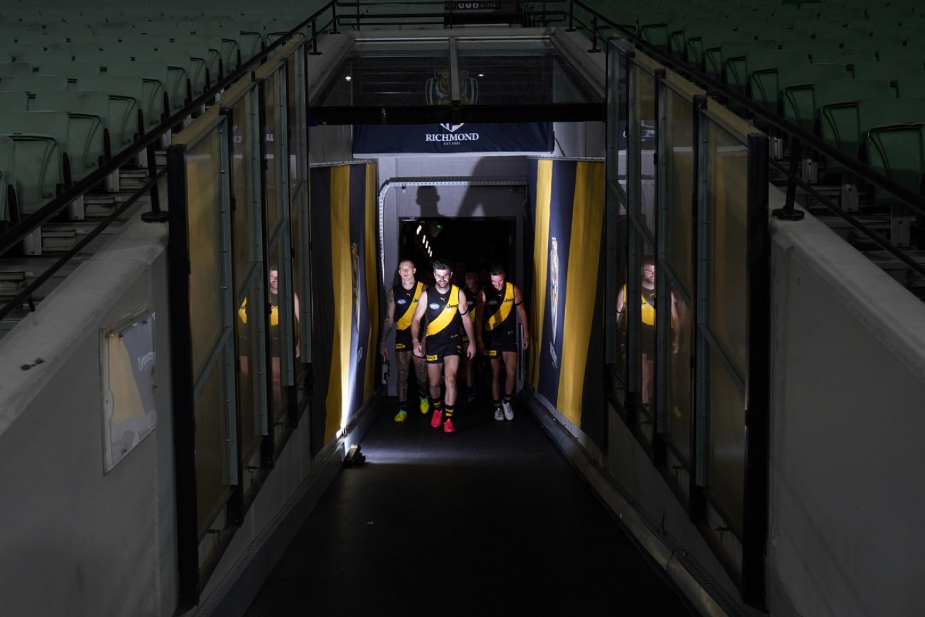
[[[353,154],[552,152],[551,122],[354,125]]]

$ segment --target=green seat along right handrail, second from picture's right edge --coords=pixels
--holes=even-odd
[[[817,80],[813,83],[818,135],[845,154],[860,157],[862,136],[857,119],[857,105],[866,99],[889,99],[889,80]],[[830,161],[829,171],[844,172],[845,167]]]

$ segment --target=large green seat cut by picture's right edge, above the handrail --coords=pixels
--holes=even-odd
[[[925,99],[861,101],[857,105],[860,129],[866,135],[870,167],[910,191],[919,192],[925,172]],[[877,204],[899,202],[876,188]]]

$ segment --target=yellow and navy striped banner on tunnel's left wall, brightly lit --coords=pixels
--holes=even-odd
[[[312,451],[375,389],[376,166],[311,170],[314,394]]]

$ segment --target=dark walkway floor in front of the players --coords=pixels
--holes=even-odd
[[[385,406],[245,613],[689,615],[530,413]]]

